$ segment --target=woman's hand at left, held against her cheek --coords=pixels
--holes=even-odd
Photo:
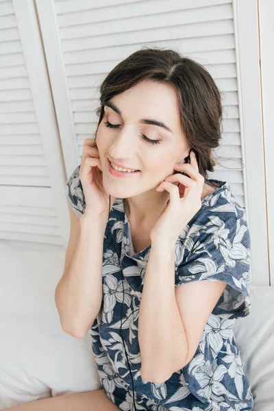
[[[99,151],[94,138],[84,140],[79,178],[83,187],[86,200],[86,212],[108,216],[116,197],[110,197],[103,188],[103,173]]]

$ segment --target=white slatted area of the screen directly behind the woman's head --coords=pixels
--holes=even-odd
[[[38,5],[42,16],[42,1]],[[222,92],[223,142],[216,150],[221,158],[209,177],[228,181],[245,207],[232,0],[70,0],[55,1],[52,7],[75,127],[77,164],[84,139],[97,125],[95,108],[103,77],[143,45],[171,47],[203,64]],[[66,136],[61,134],[61,139],[66,145]],[[74,166],[75,162],[66,162],[68,174]]]

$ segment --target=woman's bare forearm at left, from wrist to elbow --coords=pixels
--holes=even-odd
[[[72,223],[74,218],[77,219],[71,216],[70,255],[66,256],[64,273],[55,289],[55,303],[62,329],[82,338],[101,307],[103,237],[107,220],[105,216],[88,213]]]

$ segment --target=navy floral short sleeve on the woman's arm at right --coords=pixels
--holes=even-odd
[[[227,283],[212,314],[228,319],[244,317],[251,312],[250,303],[250,235],[245,210],[201,213],[188,227],[188,234],[176,249],[175,286],[193,281]],[[189,250],[189,251],[188,251]]]

